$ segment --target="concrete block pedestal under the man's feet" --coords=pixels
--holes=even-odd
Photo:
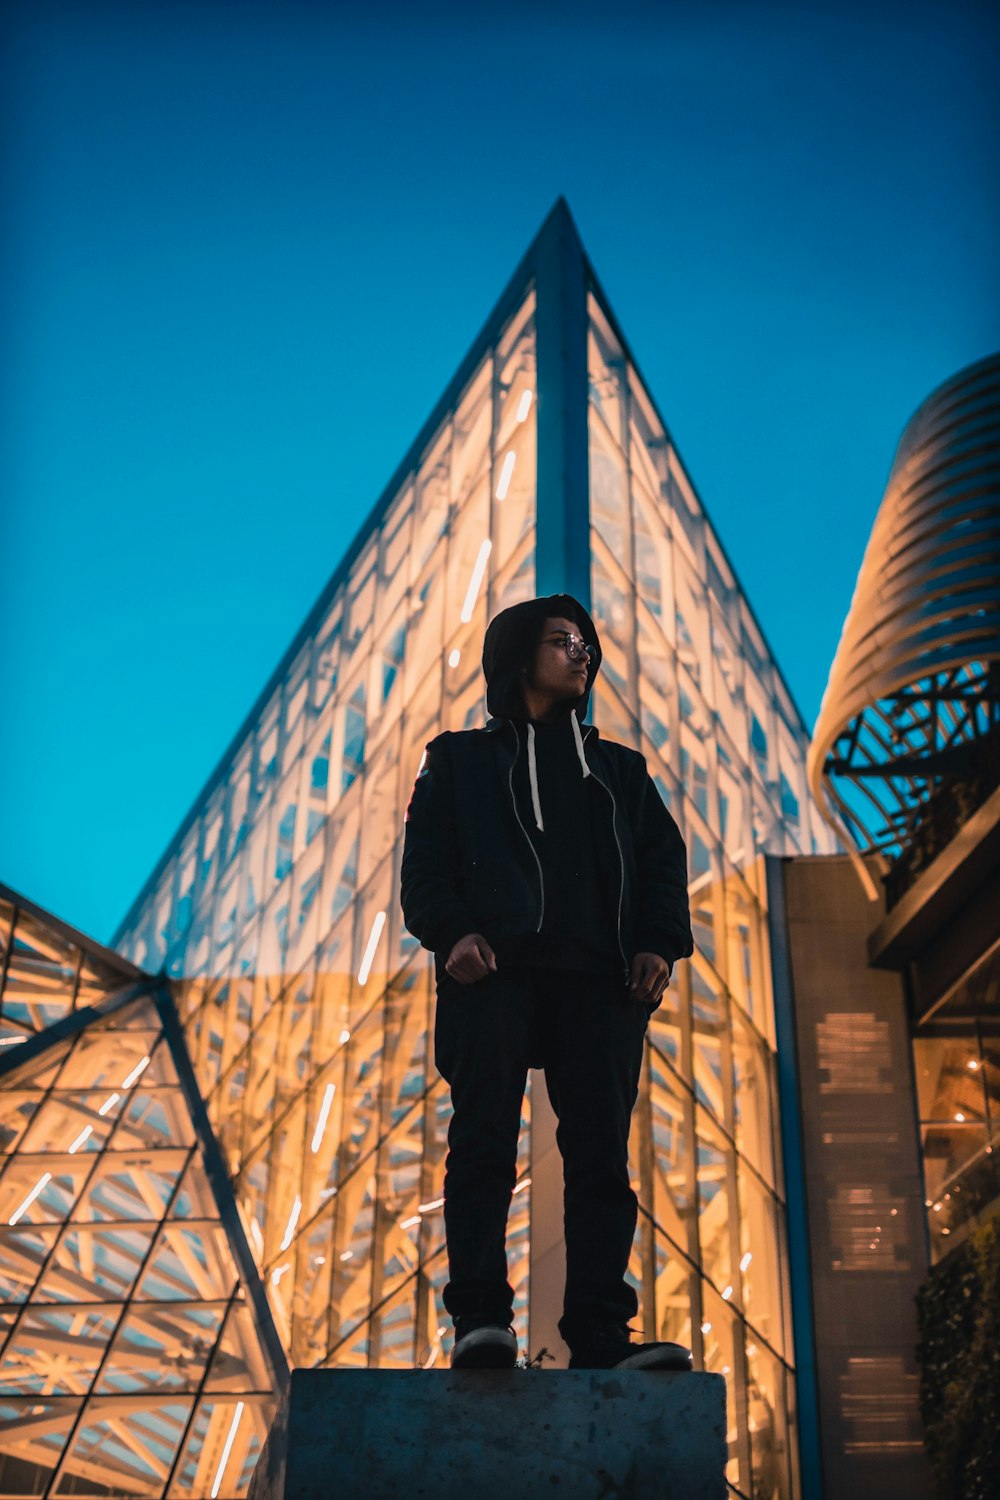
[[[721,1376],[295,1370],[249,1500],[726,1500]]]

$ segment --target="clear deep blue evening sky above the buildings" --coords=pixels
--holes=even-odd
[[[990,6],[346,9],[3,10],[0,880],[102,940],[559,194],[810,724],[1000,344]]]

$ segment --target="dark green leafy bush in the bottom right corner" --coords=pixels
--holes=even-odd
[[[1000,1218],[916,1296],[921,1413],[942,1500],[994,1500],[1000,1474]]]

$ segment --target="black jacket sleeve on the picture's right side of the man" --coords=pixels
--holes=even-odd
[[[694,952],[687,849],[649,776],[645,756],[639,758],[633,776],[636,952],[657,952],[675,964]]]

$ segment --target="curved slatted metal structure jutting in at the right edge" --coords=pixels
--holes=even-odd
[[[903,434],[807,766],[826,819],[904,884],[1000,782],[1000,354]]]

